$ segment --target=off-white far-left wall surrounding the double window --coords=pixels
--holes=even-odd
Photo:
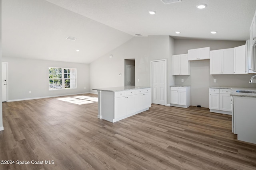
[[[2,57],[2,61],[8,62],[8,101],[90,92],[89,64],[14,57]],[[77,88],[48,90],[48,67],[76,68]]]

